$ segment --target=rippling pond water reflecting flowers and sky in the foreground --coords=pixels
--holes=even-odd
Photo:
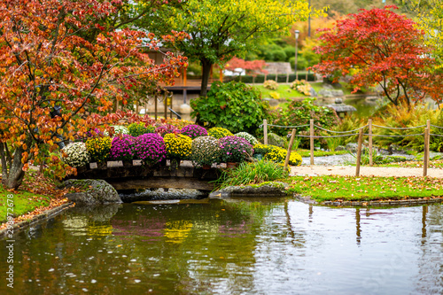
[[[15,237],[0,294],[441,294],[442,247],[440,205],[74,207]]]

